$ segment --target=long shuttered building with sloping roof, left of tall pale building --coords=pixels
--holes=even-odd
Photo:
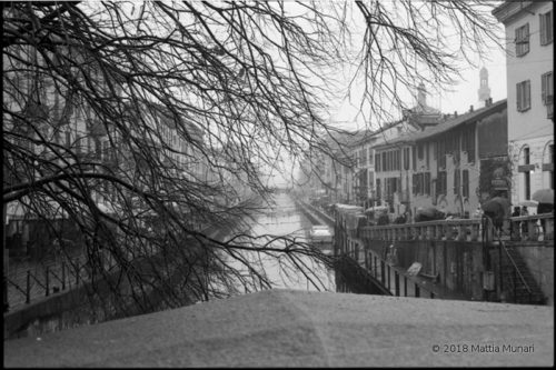
[[[469,217],[483,200],[509,190],[506,137],[506,100],[488,100],[485,108],[445,116],[437,126],[377,144],[377,194],[396,216],[434,207]],[[505,187],[493,189],[484,161],[502,168],[496,176]]]

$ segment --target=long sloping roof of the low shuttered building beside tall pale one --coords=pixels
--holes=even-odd
[[[486,116],[489,116],[489,114],[493,114],[497,111],[504,110],[506,107],[507,107],[507,100],[503,99],[503,100],[499,100],[497,102],[492,103],[488,107],[477,109],[473,112],[467,112],[465,114],[458,116],[457,118],[451,118],[451,119],[449,119],[443,123],[439,123],[437,126],[427,127],[423,131],[401,134],[395,139],[388,140],[388,142],[383,141],[381,143],[378,143],[375,147],[375,149],[388,148],[388,147],[395,146],[395,144],[413,143],[416,141],[430,139],[430,138],[434,138],[434,137],[439,136],[441,133],[445,133],[449,130],[453,130],[457,127],[481,120]]]

